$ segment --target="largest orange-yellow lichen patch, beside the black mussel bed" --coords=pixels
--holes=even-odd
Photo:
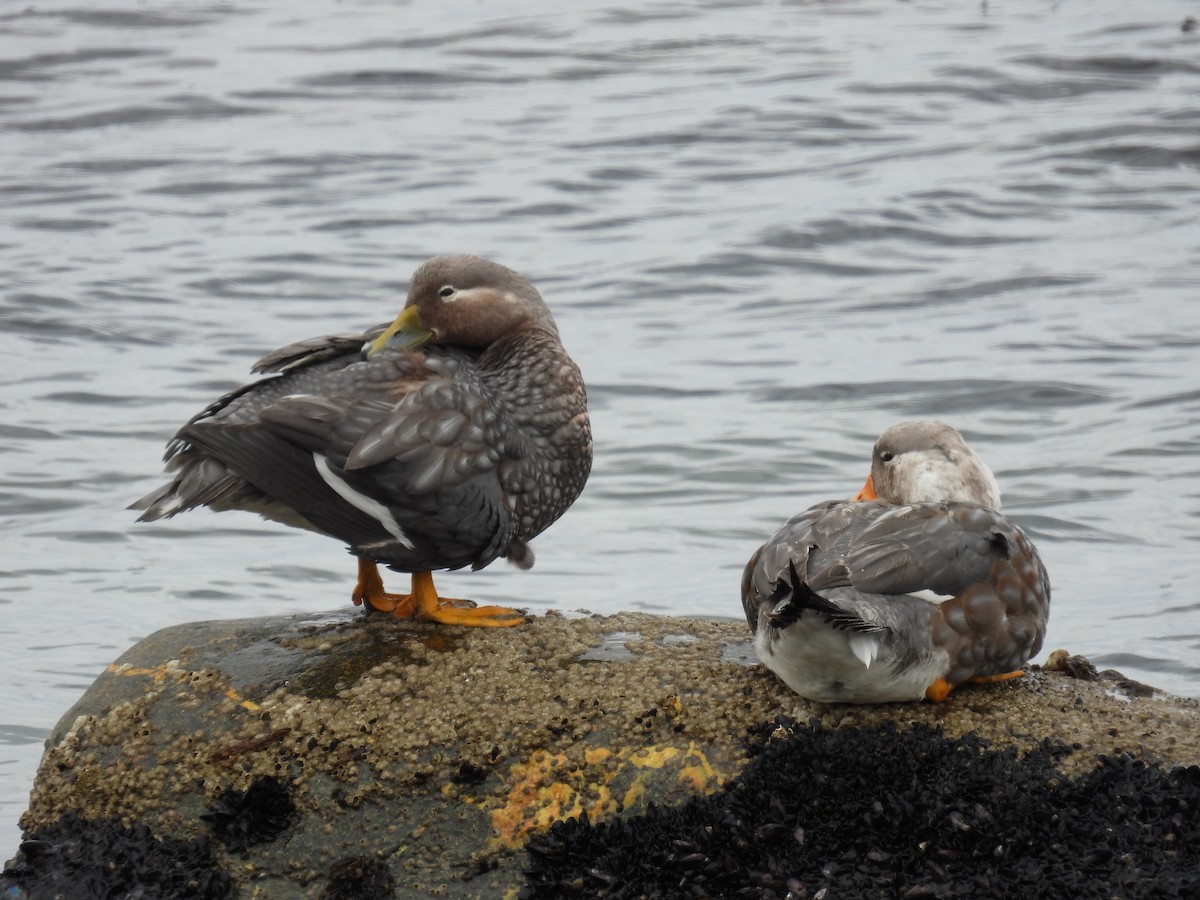
[[[725,776],[694,743],[686,749],[593,748],[583,756],[584,764],[578,766],[566,754],[538,750],[527,762],[512,766],[506,791],[499,798],[467,802],[494,806],[491,821],[496,841],[515,847],[532,833],[584,812],[595,821],[636,810],[647,797],[664,798],[672,785],[712,793],[725,784]]]

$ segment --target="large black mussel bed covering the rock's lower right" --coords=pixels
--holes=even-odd
[[[527,845],[520,896],[1200,896],[1200,767],[776,720],[720,793]]]

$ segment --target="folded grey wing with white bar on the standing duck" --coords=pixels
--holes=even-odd
[[[253,421],[211,416],[180,438],[360,556],[479,568],[508,548],[502,479],[521,448],[472,354],[400,352],[324,376],[319,392],[293,392],[310,379],[284,372]]]

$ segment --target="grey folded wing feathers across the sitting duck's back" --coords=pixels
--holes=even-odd
[[[898,506],[854,536],[842,563],[848,583],[863,593],[953,596],[986,582],[992,566],[1010,558],[1014,533],[1003,516],[973,504]]]

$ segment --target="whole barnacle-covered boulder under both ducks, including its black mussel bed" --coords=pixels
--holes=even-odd
[[[793,724],[816,715],[818,730]],[[1097,770],[1102,754],[1114,762]],[[194,848],[197,886],[256,900],[386,896],[389,878],[406,898],[577,882],[602,895],[626,870],[643,878],[629,882],[637,896],[672,866],[740,872],[751,896],[814,896],[864,868],[919,896],[990,877],[996,846],[1014,865],[1051,852],[1021,835],[1064,857],[1086,845],[1085,876],[1109,880],[1098,884],[1151,865],[1174,883],[1168,835],[1181,860],[1194,840],[1169,805],[1172,791],[1192,802],[1195,776],[1176,763],[1200,763],[1200,702],[1130,696],[1106,673],[1034,667],[938,704],[822,706],[755,665],[733,620],[199,623],[138,643],[64,716],[22,820],[30,844],[0,888],[54,896],[79,872],[98,877],[76,860],[107,850],[61,850],[97,834],[126,847],[114,890],[142,872],[133,895],[148,898],[162,876],[120,860],[158,859],[160,846]]]

